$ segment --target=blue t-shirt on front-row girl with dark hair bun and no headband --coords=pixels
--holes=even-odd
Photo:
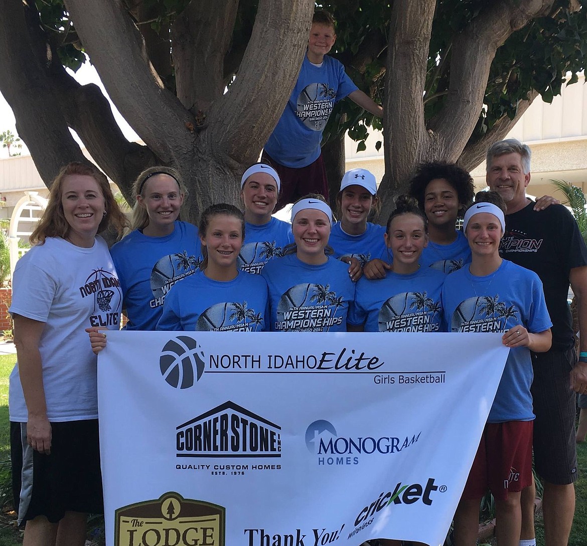
[[[349,324],[365,323],[366,332],[443,331],[440,291],[444,278],[429,267],[407,275],[388,271],[384,279],[361,277]]]

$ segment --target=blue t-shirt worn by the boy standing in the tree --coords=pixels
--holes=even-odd
[[[298,81],[265,151],[285,167],[299,169],[316,161],[334,104],[356,90],[338,60],[325,55],[318,67],[304,55]]]

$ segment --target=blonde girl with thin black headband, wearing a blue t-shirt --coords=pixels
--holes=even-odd
[[[132,231],[110,250],[129,318],[127,330],[155,330],[171,286],[200,266],[198,230],[179,220],[186,193],[171,167],[150,167],[134,182]]]

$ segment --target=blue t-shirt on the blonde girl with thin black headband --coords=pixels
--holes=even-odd
[[[198,228],[180,221],[174,226],[164,237],[135,229],[110,249],[129,318],[127,330],[155,330],[171,286],[200,267]]]

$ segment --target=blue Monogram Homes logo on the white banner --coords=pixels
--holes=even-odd
[[[339,436],[329,421],[319,419],[306,429],[306,447],[318,456],[318,465],[359,464],[359,455],[387,455],[410,447],[420,439],[420,432],[411,437]]]

